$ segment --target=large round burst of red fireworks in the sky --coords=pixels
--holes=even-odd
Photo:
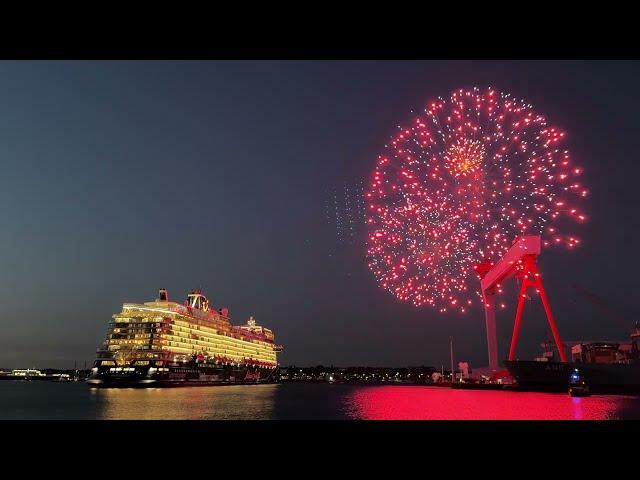
[[[578,245],[565,227],[585,220],[578,205],[587,190],[564,138],[531,105],[491,88],[430,102],[385,146],[365,194],[380,286],[464,313],[479,297],[473,263],[497,260],[516,236]]]

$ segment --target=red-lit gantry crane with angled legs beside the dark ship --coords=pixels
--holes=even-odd
[[[529,288],[535,288],[540,295],[544,311],[547,314],[547,320],[551,327],[551,333],[555,341],[560,360],[567,361],[564,351],[564,345],[560,339],[558,327],[553,319],[551,307],[547,293],[542,285],[542,278],[538,271],[536,260],[541,251],[541,239],[539,235],[525,235],[517,238],[513,246],[505,253],[505,255],[494,265],[485,261],[474,265],[474,270],[480,277],[480,286],[482,298],[484,301],[485,320],[487,325],[487,348],[489,351],[489,368],[496,371],[498,364],[498,340],[496,337],[496,309],[495,294],[500,290],[500,283],[513,276],[521,280],[520,293],[518,294],[518,307],[516,309],[516,319],[513,325],[513,336],[511,337],[511,347],[509,349],[509,360],[516,359],[516,346],[518,344],[518,335],[520,334],[520,322],[522,320],[522,311],[524,309],[524,301],[527,298]]]

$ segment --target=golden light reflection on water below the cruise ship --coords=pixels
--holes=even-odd
[[[254,420],[271,418],[279,385],[92,389],[104,420]]]

